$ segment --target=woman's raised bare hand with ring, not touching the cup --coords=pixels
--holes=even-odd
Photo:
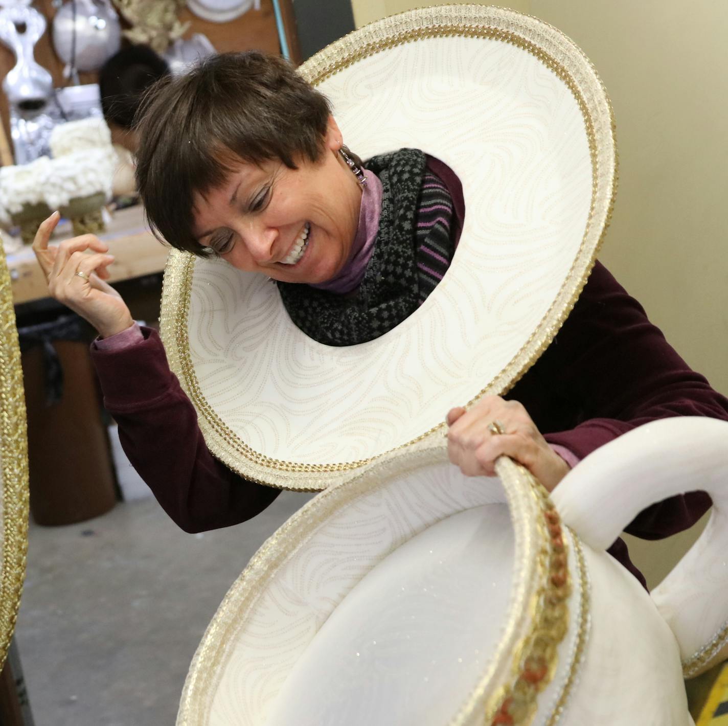
[[[107,254],[106,242],[93,234],[82,234],[61,242],[58,247],[49,247],[48,240],[59,219],[60,213],[52,213],[33,240],[33,252],[51,296],[88,320],[103,338],[121,333],[134,320],[122,296],[103,280],[108,277],[106,267],[114,261],[114,256]]]

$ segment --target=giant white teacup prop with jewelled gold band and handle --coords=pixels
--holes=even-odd
[[[485,478],[438,447],[389,457],[253,557],[198,649],[178,726],[691,725],[684,675],[727,655],[727,444],[724,421],[654,422],[551,500],[508,459]],[[713,497],[711,523],[651,597],[605,549],[638,511],[695,489]],[[569,584],[547,614],[554,537]]]

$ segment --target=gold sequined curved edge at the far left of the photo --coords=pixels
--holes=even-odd
[[[28,553],[28,437],[10,275],[0,244],[0,669],[10,646]]]

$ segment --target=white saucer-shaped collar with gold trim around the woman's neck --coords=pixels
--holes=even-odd
[[[432,295],[352,346],[298,330],[262,275],[170,254],[162,339],[207,446],[242,476],[311,490],[442,430],[454,401],[500,394],[534,363],[593,265],[616,149],[587,58],[507,9],[405,12],[299,71],[357,154],[427,151],[458,175],[467,208]]]

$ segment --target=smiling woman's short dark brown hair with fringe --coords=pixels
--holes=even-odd
[[[316,162],[328,100],[290,64],[260,52],[221,53],[154,84],[138,114],[137,186],[152,232],[205,255],[194,238],[194,195],[226,181],[236,159]]]

